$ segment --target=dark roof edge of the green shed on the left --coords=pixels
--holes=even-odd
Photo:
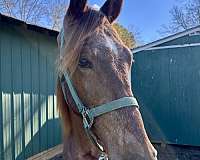
[[[48,35],[55,36],[55,37],[57,37],[57,35],[59,33],[56,30],[51,30],[51,29],[41,27],[41,26],[38,26],[38,25],[29,24],[29,23],[26,23],[22,20],[19,20],[19,19],[10,17],[10,16],[6,16],[6,15],[1,14],[1,13],[0,13],[0,22],[14,24],[14,25],[17,25],[17,26],[25,27],[26,29],[32,30],[34,32],[47,33]]]

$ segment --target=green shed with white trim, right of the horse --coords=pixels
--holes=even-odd
[[[151,140],[200,146],[200,26],[133,53],[132,86]]]

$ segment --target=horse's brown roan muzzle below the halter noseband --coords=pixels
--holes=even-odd
[[[116,119],[116,117],[118,117]],[[157,160],[137,108],[122,109],[100,117],[95,130],[111,160]]]

